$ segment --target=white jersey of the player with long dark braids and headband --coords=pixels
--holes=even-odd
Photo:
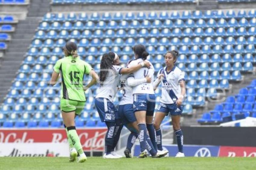
[[[120,83],[120,71],[122,67],[117,65],[113,65],[113,67],[113,70],[108,72],[108,76],[103,84],[100,85],[96,98],[102,97],[109,99],[111,102],[114,101],[114,97],[117,93],[117,87]]]

